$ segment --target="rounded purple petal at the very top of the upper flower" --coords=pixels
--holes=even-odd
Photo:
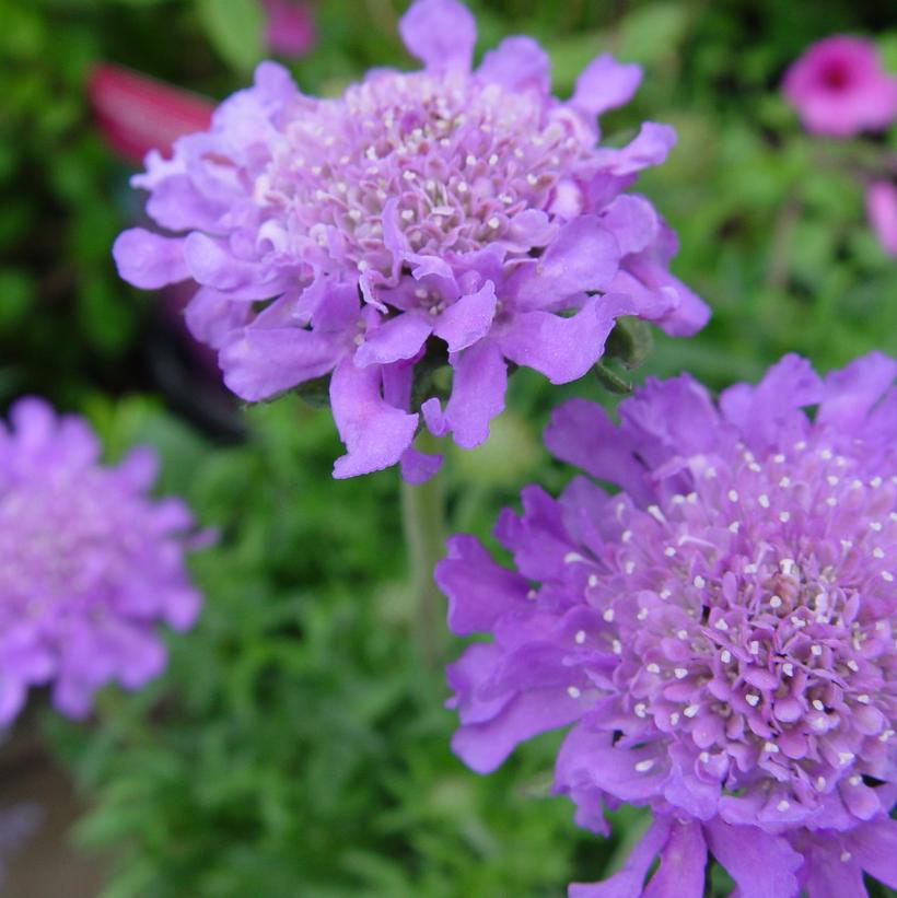
[[[477,25],[457,0],[416,0],[398,23],[411,56],[432,71],[470,68]]]

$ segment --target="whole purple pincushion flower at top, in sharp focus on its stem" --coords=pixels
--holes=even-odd
[[[400,460],[426,478],[439,458],[410,448],[421,423],[484,442],[509,362],[563,383],[620,315],[675,335],[708,317],[668,271],[672,232],[622,194],[673,130],[648,123],[621,149],[598,144],[596,116],[630,98],[637,66],[601,56],[561,103],[529,38],[471,71],[476,27],[457,0],[417,0],[400,31],[424,68],[373,70],[336,100],[259,66],[209,131],[172,160],[150,153],[133,179],[170,233],[126,231],[114,249],[137,287],[200,285],[187,322],[242,398],[330,375],[337,477]],[[444,407],[428,375],[442,362]]]

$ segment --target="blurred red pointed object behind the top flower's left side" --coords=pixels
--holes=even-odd
[[[199,94],[108,62],[91,71],[88,96],[103,136],[137,165],[150,150],[170,155],[178,137],[206,130],[214,109]]]

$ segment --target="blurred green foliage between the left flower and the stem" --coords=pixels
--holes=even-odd
[[[607,848],[547,797],[557,739],[494,777],[449,749],[441,676],[410,646],[394,473],[337,482],[327,412],[283,400],[213,450],[151,403],[92,415],[110,446],[150,439],[199,515],[208,599],[165,677],[109,690],[92,726],[53,719],[116,844],[107,896],[560,895]],[[525,847],[525,848],[524,848]]]

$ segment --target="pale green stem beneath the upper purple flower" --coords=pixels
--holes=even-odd
[[[432,438],[421,434],[418,448],[431,448]],[[428,667],[442,661],[444,625],[442,593],[433,580],[433,568],[445,553],[445,506],[439,475],[426,483],[401,481],[401,522],[408,546],[408,567],[415,603],[415,637]]]

